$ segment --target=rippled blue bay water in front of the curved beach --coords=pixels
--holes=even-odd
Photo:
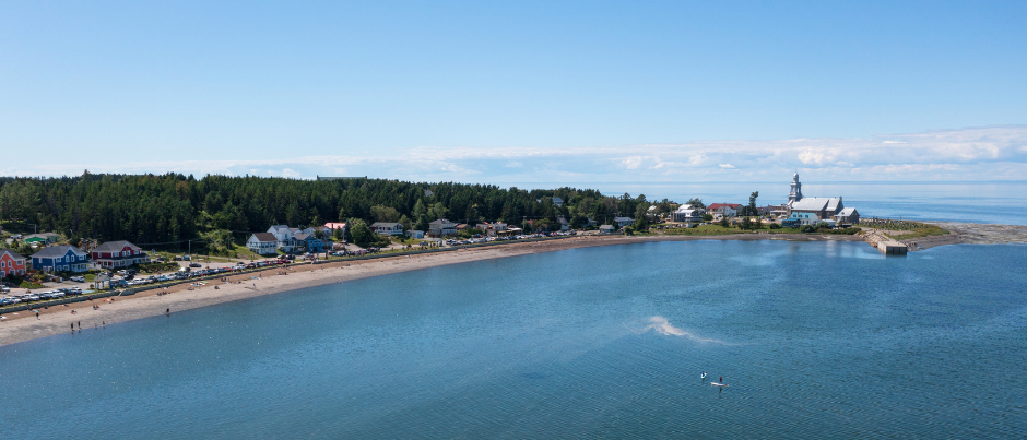
[[[0,438],[1024,438],[1025,262],[665,242],[309,288],[0,347]]]

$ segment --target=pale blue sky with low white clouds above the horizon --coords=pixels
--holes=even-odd
[[[1019,180],[1025,124],[1027,1],[0,2],[0,175]]]

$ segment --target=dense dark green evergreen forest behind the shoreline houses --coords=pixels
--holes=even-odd
[[[554,197],[565,203],[557,206]],[[530,230],[553,227],[563,216],[580,227],[588,218],[600,224],[617,215],[644,219],[649,206],[645,195],[611,197],[591,189],[528,191],[368,178],[197,179],[180,174],[88,171],[60,178],[0,177],[0,225],[8,230],[55,231],[72,243],[84,238],[129,240],[147,249],[179,249],[190,240],[197,241],[192,246],[240,243],[271,225],[318,226],[351,219],[397,222],[420,230],[427,230],[427,223],[437,218],[471,225],[503,221]],[[658,206],[665,211],[668,201]]]

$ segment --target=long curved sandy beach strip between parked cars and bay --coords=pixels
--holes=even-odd
[[[955,234],[955,233],[954,233]],[[1027,236],[1027,228],[1024,230]],[[933,246],[961,243],[963,234],[939,240]],[[142,318],[213,306],[259,296],[287,293],[305,287],[341,283],[400,272],[460,264],[533,253],[555,252],[597,246],[630,245],[658,241],[694,240],[781,240],[781,241],[863,241],[860,236],[804,234],[736,234],[723,236],[578,236],[552,241],[514,242],[486,248],[459,249],[448,252],[394,255],[373,260],[339,261],[321,264],[295,264],[287,269],[272,267],[258,273],[229,275],[227,283],[210,280],[206,285],[192,287],[180,284],[166,289],[152,289],[126,297],[93,299],[62,305],[34,312],[8,313],[0,321],[0,346],[57,334],[115,324]],[[918,241],[923,241],[918,240]],[[944,241],[944,242],[941,242]],[[928,243],[920,245],[926,249]],[[216,286],[216,288],[215,288]],[[94,309],[93,306],[98,306]],[[72,311],[75,313],[72,313]],[[81,325],[81,326],[80,326]]]

